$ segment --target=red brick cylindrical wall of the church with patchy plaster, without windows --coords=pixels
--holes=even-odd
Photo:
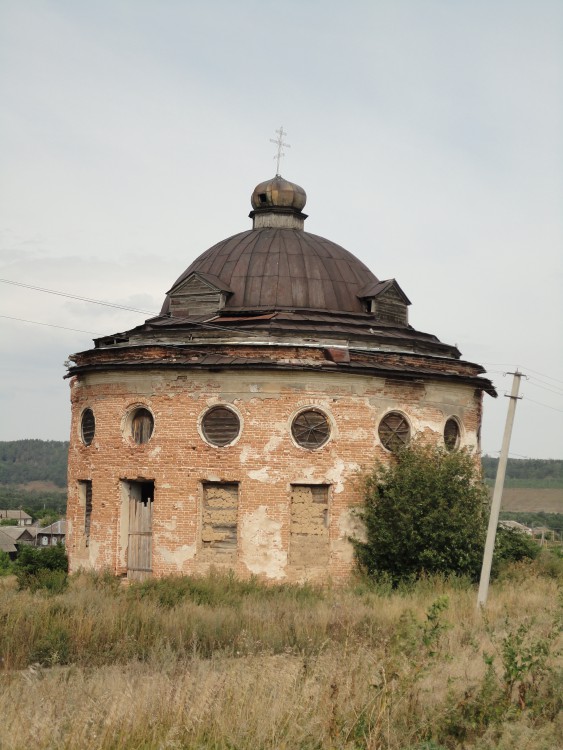
[[[239,352],[237,352],[239,353]],[[441,441],[446,419],[462,424],[462,444],[475,446],[481,395],[458,383],[408,383],[325,372],[222,372],[150,370],[87,373],[70,381],[72,427],[69,455],[68,552],[71,569],[107,568],[126,573],[127,515],[121,480],[154,480],[154,575],[205,572],[221,558],[201,547],[202,482],[238,482],[238,549],[234,567],[274,580],[339,579],[353,566],[347,537],[350,508],[361,502],[361,473],[389,454],[377,427],[391,409],[402,411],[415,433]],[[232,405],[242,431],[234,445],[209,446],[198,423],[215,403]],[[150,441],[135,445],[124,431],[134,405],[155,418]],[[317,406],[331,420],[322,448],[295,445],[291,418]],[[96,419],[93,443],[80,439],[80,417]],[[125,434],[124,434],[125,433]],[[89,546],[77,482],[92,481]],[[287,564],[292,484],[326,484],[329,491],[328,567],[293,569]],[[223,558],[224,559],[224,558]],[[230,562],[228,563],[231,564]]]

